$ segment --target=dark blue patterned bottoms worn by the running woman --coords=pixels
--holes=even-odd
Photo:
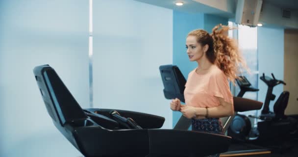
[[[224,127],[219,118],[192,119],[192,131],[224,134]],[[208,157],[219,157],[220,154]]]

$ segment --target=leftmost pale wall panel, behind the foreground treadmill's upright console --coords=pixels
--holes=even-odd
[[[80,156],[52,124],[32,70],[50,64],[88,106],[88,0],[0,5],[0,157]]]

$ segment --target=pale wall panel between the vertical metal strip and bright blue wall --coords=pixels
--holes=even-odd
[[[173,11],[134,0],[94,0],[94,106],[166,118],[159,66],[172,64]]]

